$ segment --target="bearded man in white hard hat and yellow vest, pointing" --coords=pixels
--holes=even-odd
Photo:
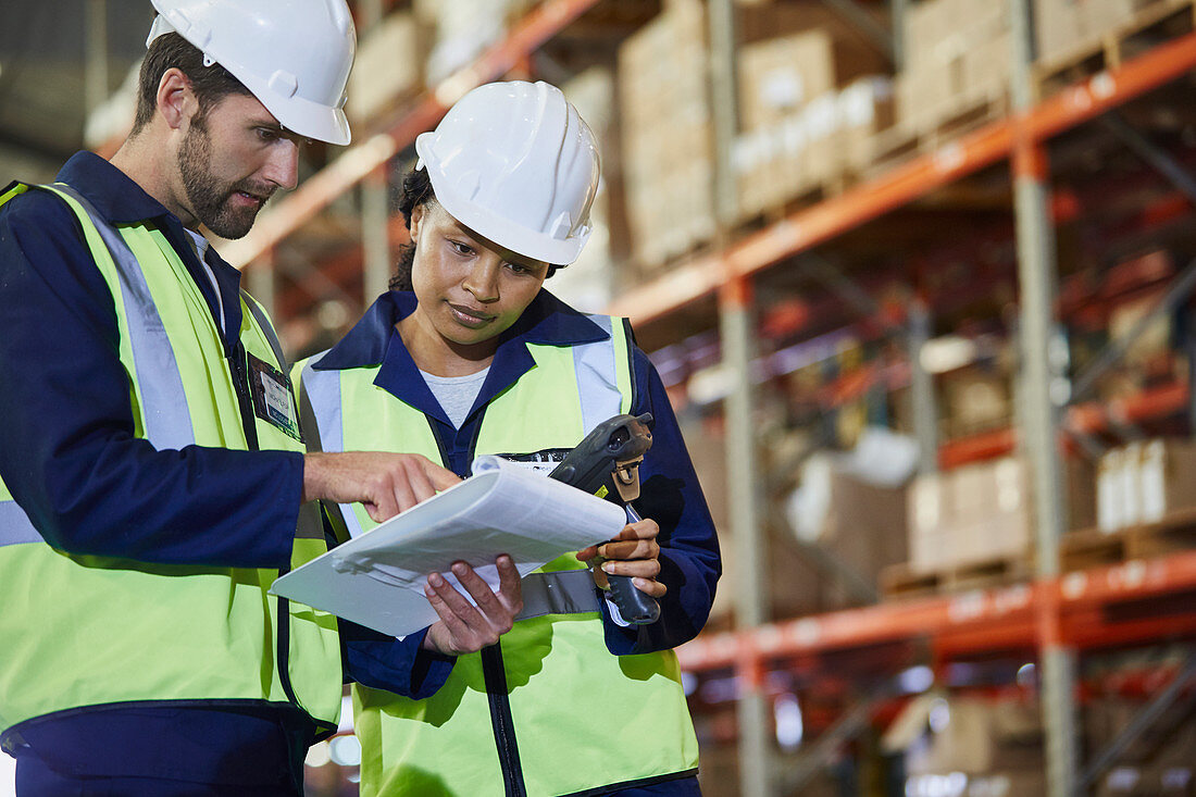
[[[153,0],[133,133],[0,195],[0,746],[20,795],[300,795],[341,705],[336,621],[268,595],[313,499],[385,519],[457,481],[303,454],[277,340],[199,235],[237,238],[343,145],[344,0]],[[309,505],[309,509],[315,505]],[[519,612],[435,579],[447,650]]]

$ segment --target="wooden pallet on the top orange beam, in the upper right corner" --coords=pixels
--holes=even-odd
[[[1062,87],[1107,69],[1160,41],[1196,29],[1194,0],[1154,0],[1133,17],[1100,34],[1079,39],[1069,49],[1035,63],[1035,90],[1046,97]]]

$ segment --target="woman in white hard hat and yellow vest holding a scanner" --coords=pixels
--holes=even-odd
[[[671,649],[709,613],[714,527],[664,387],[626,324],[542,290],[590,235],[593,134],[557,89],[500,83],[463,97],[415,146],[399,202],[411,243],[392,290],[297,366],[324,449],[368,440],[464,476],[480,454],[559,461],[599,421],[645,412],[654,444],[637,501],[647,519],[525,578],[523,614],[498,644],[445,656],[451,629],[438,623],[404,640],[408,669],[395,679],[377,649],[348,643],[361,792],[697,795]],[[370,528],[364,512],[347,515],[350,533]],[[596,589],[599,572],[634,577],[660,601],[660,620],[624,623]],[[537,578],[569,606],[529,610]]]

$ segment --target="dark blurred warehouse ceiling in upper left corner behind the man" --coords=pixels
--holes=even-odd
[[[84,147],[89,22],[104,26],[106,96],[140,61],[153,8],[146,0],[0,0],[0,184],[48,180]]]

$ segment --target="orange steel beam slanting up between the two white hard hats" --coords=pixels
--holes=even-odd
[[[221,247],[221,255],[237,268],[244,268],[263,253],[275,248],[328,207],[367,175],[384,165],[410,145],[420,133],[432,129],[445,111],[465,92],[506,74],[521,59],[580,17],[598,0],[547,0],[527,13],[504,38],[464,67],[428,91],[409,114],[389,130],[349,147],[336,160],[303,182],[288,196],[262,213],[254,230]]]

